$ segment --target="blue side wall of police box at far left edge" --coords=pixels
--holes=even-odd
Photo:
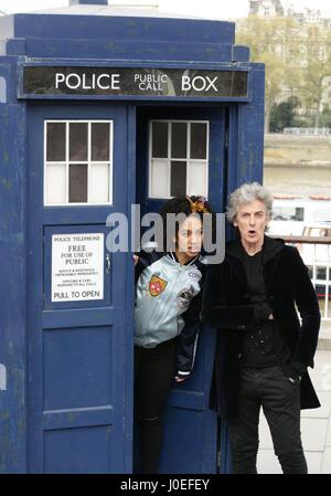
[[[25,109],[0,104],[0,473],[26,469]]]

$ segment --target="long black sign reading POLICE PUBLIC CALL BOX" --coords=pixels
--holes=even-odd
[[[19,97],[248,98],[248,71],[24,65]]]

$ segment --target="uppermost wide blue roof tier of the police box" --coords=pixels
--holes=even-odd
[[[19,13],[0,19],[2,38],[79,40],[156,40],[234,43],[233,22],[124,15]]]

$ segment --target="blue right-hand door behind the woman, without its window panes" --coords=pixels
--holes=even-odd
[[[158,211],[166,202],[148,197],[148,141],[150,119],[183,119],[210,122],[209,200],[223,212],[225,196],[226,123],[225,107],[153,107],[140,108],[137,125],[137,200],[141,213]],[[199,194],[199,191],[196,191]],[[218,420],[209,409],[210,387],[214,366],[215,334],[202,329],[192,377],[183,383],[173,382],[168,400],[164,446],[160,472],[174,474],[214,473],[217,465]]]

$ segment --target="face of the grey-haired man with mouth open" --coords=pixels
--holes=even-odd
[[[263,243],[268,222],[269,218],[265,203],[260,200],[254,200],[238,207],[234,226],[238,228],[244,243],[256,244]]]

